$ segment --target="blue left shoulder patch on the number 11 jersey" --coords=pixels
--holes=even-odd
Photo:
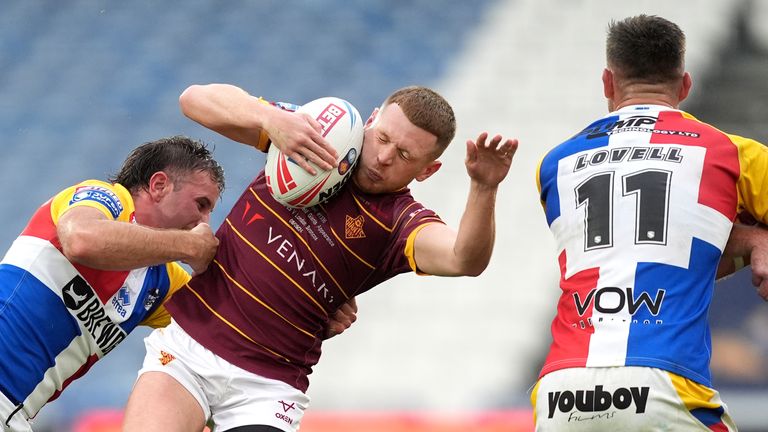
[[[618,119],[619,116],[610,116],[592,123],[562,145],[557,146],[542,160],[539,181],[541,182],[541,201],[545,206],[548,225],[552,225],[552,222],[560,216],[560,194],[557,188],[557,168],[560,160],[584,150],[607,146],[606,131],[611,130]]]

